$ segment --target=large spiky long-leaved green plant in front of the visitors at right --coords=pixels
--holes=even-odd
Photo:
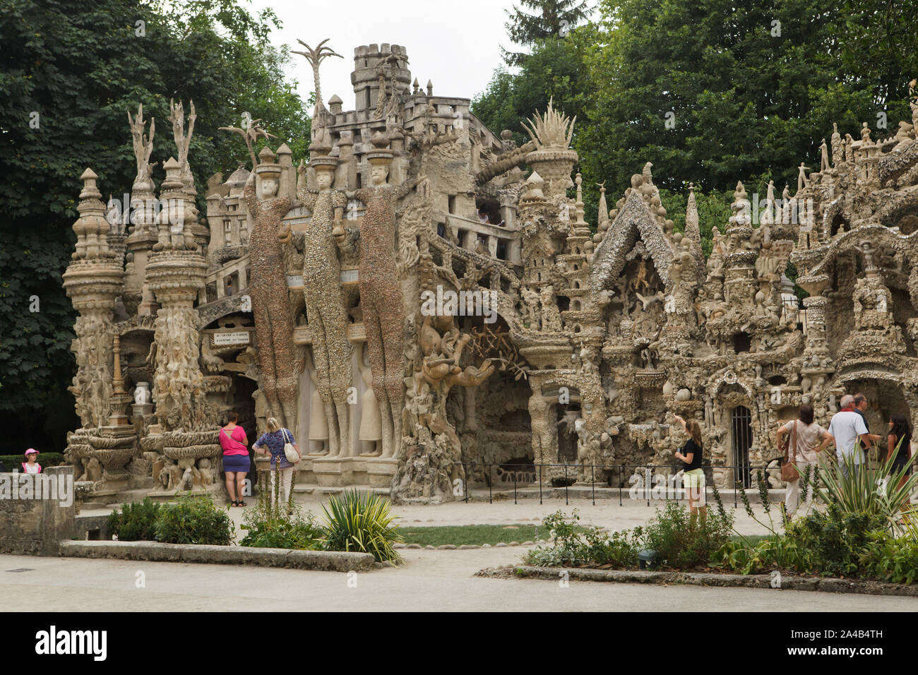
[[[903,507],[908,507],[912,490],[918,485],[918,475],[903,480],[908,465],[893,471],[896,453],[890,459],[880,461],[875,468],[865,463],[855,470],[852,457],[859,452],[860,439],[856,441],[855,453],[842,456],[841,464],[830,463],[824,466],[820,471],[822,480],[816,494],[825,503],[836,505],[843,513],[879,515],[889,523],[890,530],[895,530],[900,518],[899,512]]]

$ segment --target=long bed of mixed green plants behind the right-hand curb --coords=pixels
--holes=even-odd
[[[854,471],[845,475],[837,465],[823,467],[818,475],[806,472],[801,480],[812,479],[819,506],[792,521],[768,501],[764,475],[760,472],[757,478],[762,512],[753,509],[745,490],[739,494],[745,512],[767,529],[766,536],[736,532],[733,513],[724,508],[714,488],[714,503],[705,518],[692,517],[685,506],[669,501],[643,527],[611,534],[579,527],[576,511],[555,512],[543,520],[550,541],[532,549],[525,562],[538,567],[629,569],[638,567],[638,554],[644,549],[653,552],[660,567],[677,570],[777,570],[893,583],[912,583],[918,577],[918,518],[900,494],[913,489],[918,477],[905,479],[898,489],[903,477],[890,474],[889,463],[862,467],[859,476]],[[813,487],[801,487],[805,501]]]

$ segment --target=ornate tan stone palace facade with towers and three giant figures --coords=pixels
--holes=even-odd
[[[603,188],[593,231],[553,107],[518,147],[412,83],[404,47],[358,47],[351,79],[355,109],[319,102],[305,162],[250,152],[204,214],[193,105],[171,107],[158,194],[153,123],[129,115],[130,218],[84,172],[64,275],[84,494],[220,489],[229,410],[251,440],[272,415],[295,433],[299,483],[422,501],[457,479],[618,487],[672,464],[674,414],[702,422],[722,487],[767,467],[803,402],[827,422],[863,391],[874,431],[918,422],[918,100],[892,138],[835,129],[793,196],[753,208],[737,185],[706,260],[691,188],[676,232],[650,163],[611,209]],[[258,122],[228,130],[251,150]]]

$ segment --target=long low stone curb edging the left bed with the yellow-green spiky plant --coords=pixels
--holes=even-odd
[[[159,542],[63,541],[62,557],[114,557],[151,562],[258,565],[266,568],[317,569],[338,572],[375,568],[369,553],[297,551],[287,548],[161,544]]]

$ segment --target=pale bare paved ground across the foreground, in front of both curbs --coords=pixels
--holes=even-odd
[[[6,612],[93,611],[914,611],[918,601],[806,591],[482,579],[521,548],[407,549],[398,569],[359,573],[129,560],[0,556]],[[16,568],[32,571],[12,572]],[[137,588],[138,572],[146,587]]]

